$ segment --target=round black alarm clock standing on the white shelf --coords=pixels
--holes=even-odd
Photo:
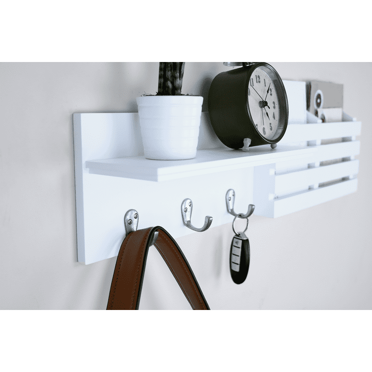
[[[224,62],[243,67],[218,74],[208,94],[208,111],[217,137],[232,148],[281,140],[288,125],[288,99],[278,72],[265,62]]]

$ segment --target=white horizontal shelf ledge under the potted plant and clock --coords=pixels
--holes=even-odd
[[[149,160],[143,155],[86,161],[89,173],[146,181],[169,181],[221,171],[232,171],[265,164],[314,156],[316,146],[269,145],[252,147],[249,152],[214,148],[198,150],[189,160]]]

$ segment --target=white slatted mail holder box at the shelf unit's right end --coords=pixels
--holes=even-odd
[[[319,123],[310,113],[307,120],[288,125],[280,142],[304,143],[317,151],[308,163],[297,159],[255,168],[255,214],[280,217],[356,191],[359,163],[354,157],[359,154],[361,123],[346,113],[340,123]],[[323,165],[329,160],[336,163]]]

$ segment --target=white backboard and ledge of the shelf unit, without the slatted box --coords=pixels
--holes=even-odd
[[[235,210],[245,212],[252,202],[254,166],[266,164],[272,156],[275,161],[297,157],[306,161],[315,151],[285,146],[275,150],[269,146],[256,147],[244,154],[227,150],[211,130],[208,120],[208,115],[202,113],[202,137],[198,146],[201,150],[196,160],[162,161],[162,166],[156,165],[151,171],[158,163],[142,159],[137,113],[74,114],[79,262],[94,263],[117,255],[124,239],[124,215],[128,209],[139,212],[139,229],[160,225],[174,237],[194,233],[182,223],[181,203],[185,198],[194,203],[191,217],[194,226],[201,227],[207,215],[213,217],[211,228],[232,222],[233,216],[226,210],[226,191],[235,190]],[[216,144],[220,146],[217,150],[202,149],[216,147]],[[137,174],[137,178],[162,182],[124,178],[123,174],[107,176],[104,174],[113,175],[115,168],[108,171],[105,161],[92,162],[116,159],[111,160],[114,165],[124,157],[133,160],[133,168],[126,167],[126,172]],[[102,174],[90,173],[86,164],[91,166],[91,163],[97,168],[102,166],[96,169]]]

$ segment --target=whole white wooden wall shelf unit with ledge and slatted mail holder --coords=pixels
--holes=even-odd
[[[117,256],[129,209],[139,212],[139,229],[160,225],[177,238],[194,233],[181,217],[186,198],[195,205],[194,224],[208,215],[213,228],[233,220],[225,202],[231,188],[237,211],[254,204],[254,214],[266,217],[356,191],[360,122],[344,114],[342,123],[319,123],[306,115],[307,123],[288,125],[276,149],[243,153],[221,144],[203,112],[197,157],[155,161],[143,156],[138,113],[74,114],[78,261]]]

